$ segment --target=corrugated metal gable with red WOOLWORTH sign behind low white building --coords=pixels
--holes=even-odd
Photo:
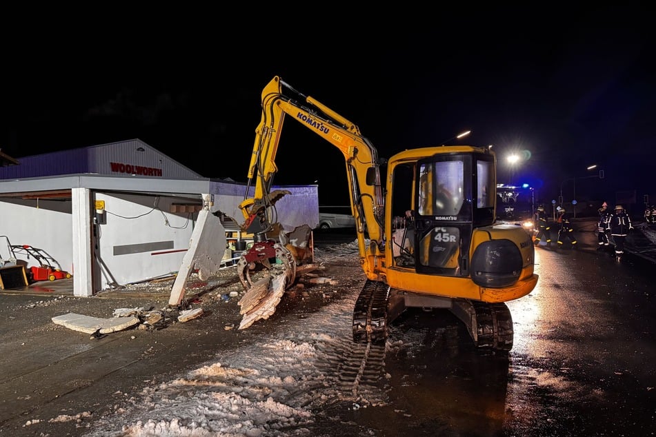
[[[97,173],[156,179],[205,179],[139,139],[18,158],[0,167],[0,179]]]

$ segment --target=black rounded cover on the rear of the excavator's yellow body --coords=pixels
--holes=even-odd
[[[508,287],[519,280],[522,265],[521,252],[513,241],[485,241],[474,250],[472,280],[481,287]]]

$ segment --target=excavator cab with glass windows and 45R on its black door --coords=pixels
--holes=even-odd
[[[395,264],[413,266],[418,273],[468,276],[473,230],[495,221],[495,156],[484,150],[433,154],[397,165],[393,172],[393,208],[404,209],[399,199],[411,199],[413,205],[405,207],[411,217],[392,220],[392,235],[404,232],[392,238],[393,244],[404,241],[404,250],[397,247],[392,256]],[[408,177],[413,186],[401,186]],[[413,194],[401,194],[408,189]]]

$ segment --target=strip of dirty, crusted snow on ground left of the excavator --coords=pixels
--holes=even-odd
[[[352,257],[357,265],[354,253],[357,245],[348,243],[317,249],[315,258]],[[381,389],[359,387],[354,394],[340,389],[339,378],[330,374],[335,360],[352,347],[357,292],[312,314],[309,323],[292,321],[257,345],[143,389],[113,416],[97,421],[88,436],[308,436],[313,409],[342,402],[353,408],[381,405]]]

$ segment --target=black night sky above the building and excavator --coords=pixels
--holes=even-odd
[[[653,14],[517,4],[390,10],[376,25],[337,14],[64,26],[6,46],[0,148],[20,159],[138,138],[208,178],[246,181],[260,93],[279,75],[356,123],[381,157],[471,130],[451,143],[492,144],[499,181],[528,182],[545,203],[561,187],[573,196],[574,178],[579,199],[656,200]],[[510,167],[511,152],[525,160]],[[348,202],[341,154],[289,117],[277,165],[275,183],[317,181],[320,203]]]

